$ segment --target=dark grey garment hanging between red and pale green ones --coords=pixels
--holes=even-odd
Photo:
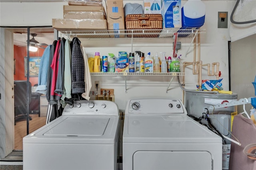
[[[59,58],[58,58],[58,75],[56,79],[56,88],[54,90],[54,93],[58,94],[56,95],[56,99],[60,100],[60,97],[63,95],[64,91],[64,59],[65,59],[65,38],[61,38],[60,42],[60,51],[59,51]]]

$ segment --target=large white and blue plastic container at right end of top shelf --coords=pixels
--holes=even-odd
[[[201,0],[188,0],[181,9],[182,28],[198,29],[204,25],[205,4]]]

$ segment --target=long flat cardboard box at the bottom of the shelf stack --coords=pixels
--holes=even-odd
[[[59,31],[107,30],[106,20],[73,20],[53,18],[52,27]]]

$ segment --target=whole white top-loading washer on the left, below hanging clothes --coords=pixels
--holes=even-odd
[[[119,111],[112,101],[75,101],[23,138],[24,170],[117,170]]]

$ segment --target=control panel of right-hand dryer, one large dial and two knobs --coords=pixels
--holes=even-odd
[[[179,99],[131,99],[128,102],[125,114],[187,115],[186,109]]]

